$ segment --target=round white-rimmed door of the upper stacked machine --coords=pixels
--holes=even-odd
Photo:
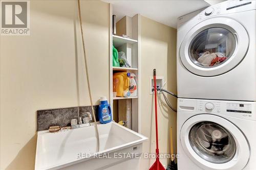
[[[180,59],[193,74],[218,76],[236,67],[245,57],[248,46],[248,34],[238,21],[210,18],[186,34],[180,46]]]

